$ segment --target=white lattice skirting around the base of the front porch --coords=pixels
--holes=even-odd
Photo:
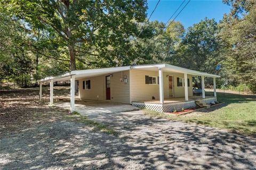
[[[143,107],[151,111],[157,112],[173,112],[180,111],[182,109],[194,108],[196,107],[195,101],[179,101],[173,103],[156,104],[156,103],[144,103],[144,102],[132,102],[135,107]]]

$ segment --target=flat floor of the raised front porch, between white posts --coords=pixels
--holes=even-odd
[[[205,96],[205,98],[214,98],[214,96]],[[189,96],[188,101],[196,100],[196,99],[202,99],[202,96]],[[186,101],[185,97],[172,97],[172,98],[165,98],[164,103],[173,103],[173,102],[179,102],[179,101]],[[141,102],[141,103],[155,103],[160,104],[159,99],[155,100],[145,100],[145,101],[132,101],[132,102]]]

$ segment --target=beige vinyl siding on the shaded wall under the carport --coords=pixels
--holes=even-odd
[[[109,74],[108,74],[109,75]],[[91,77],[79,80],[79,96],[81,99],[130,103],[129,71],[123,71],[127,83],[121,81],[122,72],[112,73],[110,77],[110,100],[106,100],[106,76]],[[83,81],[91,80],[91,89],[83,89]]]

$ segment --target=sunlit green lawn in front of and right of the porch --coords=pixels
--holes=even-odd
[[[256,96],[219,92],[217,98],[225,104],[186,115],[161,114],[160,117],[227,128],[238,133],[256,134]],[[145,113],[159,117],[159,113],[156,112],[146,110]]]

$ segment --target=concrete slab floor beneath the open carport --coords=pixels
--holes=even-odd
[[[57,103],[54,103],[54,106],[70,109],[70,103],[65,101],[59,101]],[[129,104],[92,100],[83,100],[75,102],[75,111],[77,111],[83,116],[95,116],[106,113],[118,113],[135,110],[138,110],[138,107],[134,107]]]

